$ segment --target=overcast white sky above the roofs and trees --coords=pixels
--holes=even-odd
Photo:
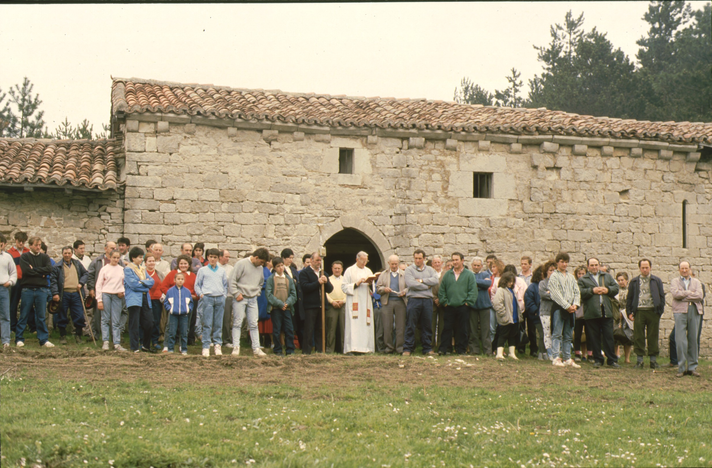
[[[704,1],[691,1],[701,9]],[[463,76],[493,91],[581,12],[631,58],[646,1],[396,4],[1,5],[0,88],[28,76],[49,130],[110,117],[111,76],[452,100]],[[8,19],[12,19],[8,21]]]

